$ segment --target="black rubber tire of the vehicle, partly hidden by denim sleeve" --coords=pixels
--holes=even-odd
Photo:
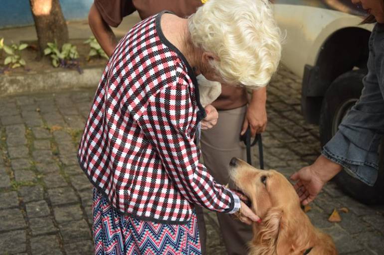
[[[362,80],[366,73],[367,70],[347,72],[339,76],[328,88],[320,113],[320,141],[322,147],[337,131],[338,125],[334,124],[334,121],[340,120],[339,116],[344,112],[343,109],[348,108],[346,106],[348,102],[351,104],[351,99],[357,100],[360,97],[363,88]],[[383,148],[383,142],[381,148]],[[384,154],[381,152],[381,155]],[[384,204],[383,171],[383,162],[381,162],[379,177],[373,187],[352,177],[344,170],[334,177],[334,181],[346,194],[362,203],[370,205]]]

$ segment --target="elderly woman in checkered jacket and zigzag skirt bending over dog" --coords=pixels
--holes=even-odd
[[[267,85],[280,59],[267,0],[209,0],[188,19],[161,12],[120,41],[102,75],[78,157],[94,188],[96,254],[200,254],[193,204],[259,218],[199,163],[206,113],[196,75]]]

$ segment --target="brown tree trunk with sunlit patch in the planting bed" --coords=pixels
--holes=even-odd
[[[48,42],[57,41],[59,47],[68,42],[68,28],[59,0],[29,0],[35,22],[39,57]]]

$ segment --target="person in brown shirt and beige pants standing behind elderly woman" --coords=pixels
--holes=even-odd
[[[196,11],[206,0],[95,0],[89,12],[89,25],[97,41],[108,56],[111,56],[118,41],[111,26],[120,25],[123,17],[138,11],[145,19],[162,10],[170,10],[180,17],[186,17]],[[229,180],[228,163],[232,157],[246,158],[245,147],[240,142],[248,126],[251,134],[264,132],[267,124],[266,87],[253,90],[248,100],[247,90],[243,87],[222,85],[220,96],[212,103],[219,113],[215,120],[201,122],[203,130],[200,145],[204,164],[212,176],[221,184]],[[208,107],[211,107],[210,105]],[[207,109],[207,108],[206,108]],[[205,254],[206,230],[202,209],[196,207],[200,231],[201,250]],[[251,240],[251,227],[227,214],[217,214],[221,233],[228,255],[244,255],[247,243]]]

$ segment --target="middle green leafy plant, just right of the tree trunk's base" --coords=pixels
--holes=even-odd
[[[79,53],[76,46],[70,43],[64,43],[61,51],[57,46],[57,42],[47,43],[47,48],[44,49],[44,55],[49,55],[52,59],[52,66],[64,68],[77,68],[79,73],[82,73],[79,65]]]

